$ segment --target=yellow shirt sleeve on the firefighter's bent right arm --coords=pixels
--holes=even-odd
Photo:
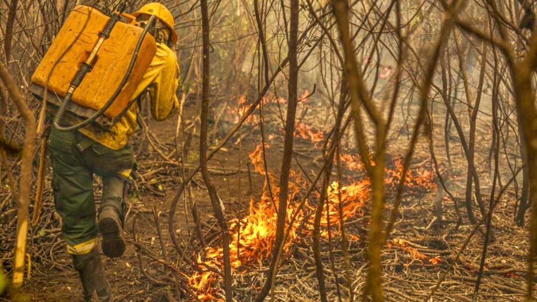
[[[179,109],[176,91],[179,65],[175,53],[164,43],[157,43],[157,52],[138,87],[146,87],[151,97],[151,115],[157,121],[168,119]],[[137,93],[135,93],[137,95]]]

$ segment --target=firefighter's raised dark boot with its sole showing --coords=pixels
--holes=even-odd
[[[123,218],[125,180],[119,176],[103,178],[103,201],[99,209],[99,232],[103,234],[103,253],[111,258],[120,257],[125,252]]]

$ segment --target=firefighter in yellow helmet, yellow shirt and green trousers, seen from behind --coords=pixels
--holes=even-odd
[[[176,95],[179,66],[172,50],[177,34],[173,30],[173,16],[162,4],[149,3],[133,13],[140,22],[151,15],[158,17],[153,32],[157,51],[132,100],[149,91],[151,115],[155,120],[163,121],[179,107]],[[88,126],[63,132],[52,127],[47,141],[53,166],[56,211],[62,217],[62,235],[81,278],[86,301],[95,293],[100,301],[113,300],[97,248],[97,234],[103,235],[101,248],[106,256],[115,258],[124,253],[125,191],[136,165],[128,138],[136,129],[137,107],[134,102],[120,121],[107,131]],[[93,197],[94,173],[103,181],[98,213]]]

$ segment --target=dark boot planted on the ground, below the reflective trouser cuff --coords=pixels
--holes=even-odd
[[[104,274],[99,249],[94,248],[84,255],[72,255],[72,259],[82,281],[84,300],[92,301],[92,297],[96,294],[100,302],[112,302],[114,300],[112,288]]]

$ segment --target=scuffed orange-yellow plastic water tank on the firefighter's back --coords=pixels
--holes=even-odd
[[[90,108],[94,112],[102,108],[124,78],[143,29],[134,17],[128,14],[123,16],[129,19],[129,23],[119,21],[115,24],[110,38],[97,51],[92,70],[86,74],[72,96],[72,102],[83,108],[70,106],[69,111],[82,117],[91,115],[91,111],[83,109]],[[35,70],[32,86],[39,87],[31,89],[32,92],[40,94],[39,90],[42,92],[43,87],[46,87],[54,94],[53,98],[47,100],[59,105],[60,98],[67,93],[71,80],[96,45],[98,33],[104,29],[108,19],[106,14],[91,6],[76,6]],[[136,97],[133,95],[134,90],[155,53],[155,39],[147,34],[124,89],[104,113],[105,116],[115,120],[126,111],[130,100]]]

